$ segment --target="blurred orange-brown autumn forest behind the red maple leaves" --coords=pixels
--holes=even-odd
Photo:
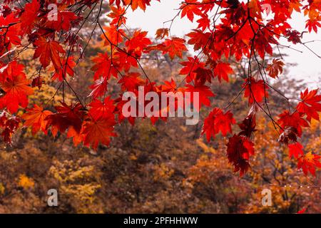
[[[92,30],[90,23],[83,29],[83,46],[89,38],[91,42],[71,80],[72,87],[84,100],[89,100],[86,96],[92,83],[92,56],[108,51],[98,30],[91,34]],[[36,71],[32,53],[24,51],[21,58],[28,66],[28,76]],[[183,58],[188,55],[193,53],[186,53]],[[73,56],[79,56],[79,51],[74,50]],[[180,60],[171,61],[159,53],[151,53],[148,57],[155,58],[143,62],[152,81],[159,84],[170,78],[176,82],[183,79],[178,75]],[[212,90],[216,94],[213,107],[225,107],[228,100],[233,100],[246,77],[245,63],[229,61],[234,63],[235,75],[230,83],[213,83]],[[287,78],[286,68],[289,67],[289,64],[285,66],[285,72],[280,76],[282,80],[273,86],[296,97],[305,85]],[[30,106],[46,103],[56,92],[58,83],[50,80],[51,75],[43,72],[41,79],[46,83],[31,96]],[[116,82],[115,78],[113,80]],[[111,83],[108,90],[114,98],[119,88]],[[68,90],[65,93],[68,103],[73,95]],[[56,102],[61,95],[60,92],[56,95]],[[285,105],[280,95],[271,91],[272,114],[280,113]],[[320,170],[316,177],[305,176],[297,170],[287,147],[277,142],[277,132],[264,113],[258,118],[251,170],[240,178],[228,164],[227,142],[217,137],[208,143],[200,137],[203,120],[210,110],[201,110],[197,125],[185,125],[183,118],[168,118],[166,123],[158,121],[155,125],[147,119],[136,120],[135,125],[126,121],[116,128],[118,137],[113,138],[111,145],[100,146],[97,151],[74,147],[66,135],[58,135],[55,139],[50,132],[49,135],[33,136],[25,128],[16,133],[13,145],[2,144],[0,149],[0,212],[296,213],[301,209],[307,209],[309,213],[321,212],[320,187],[307,187],[321,185]],[[248,103],[238,98],[233,110],[239,123],[248,114]],[[302,136],[305,150],[320,152],[320,130],[320,123],[312,120],[311,132]],[[47,205],[47,191],[51,188],[58,190],[58,207]],[[261,204],[261,191],[265,188],[272,190],[271,207]]]

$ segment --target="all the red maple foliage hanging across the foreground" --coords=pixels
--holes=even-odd
[[[5,0],[0,4],[0,108],[8,111],[1,120],[0,128],[6,142],[11,141],[12,133],[18,128],[19,120],[15,116],[19,107],[26,108],[28,95],[34,93],[33,87],[40,88],[42,85],[41,70],[50,71],[53,80],[60,82],[60,85],[63,83],[69,86],[66,76],[75,75],[74,68],[78,63],[74,50],[81,49],[81,37],[77,31],[89,16],[83,15],[82,9],[88,8],[92,12],[101,6],[101,2],[61,0],[57,2],[57,11],[54,14],[49,7],[51,0],[30,0],[24,6],[21,6],[19,0]],[[239,171],[240,175],[244,175],[250,167],[250,155],[254,153],[251,138],[256,131],[256,109],[263,109],[263,104],[267,105],[269,98],[267,76],[279,77],[284,66],[280,59],[274,59],[265,66],[261,64],[261,74],[253,76],[251,60],[264,59],[267,54],[272,55],[272,46],[279,43],[281,36],[292,43],[301,43],[302,33],[293,30],[287,23],[293,11],[307,15],[307,30],[317,32],[321,19],[320,1],[302,3],[297,0],[250,0],[245,3],[238,0],[185,0],[180,4],[178,16],[186,16],[190,21],[196,20],[197,28],[186,34],[187,41],[171,36],[170,28],[160,28],[156,31],[157,41],[154,42],[148,38],[146,31],[136,29],[127,33],[126,29],[123,29],[128,9],[134,11],[139,8],[145,11],[152,2],[153,0],[110,0],[111,12],[107,15],[110,22],[102,26],[99,22],[101,15],[96,17],[95,28],[100,29],[103,43],[109,51],[98,53],[93,58],[93,84],[89,94],[92,100],[85,104],[75,94],[76,102],[61,102],[54,107],[53,112],[45,110],[44,105],[34,105],[34,108],[27,109],[22,115],[24,125],[30,127],[34,134],[39,130],[45,134],[50,130],[52,135],[66,133],[68,138],[73,138],[75,145],[80,142],[94,148],[99,143],[108,145],[111,137],[116,136],[113,131],[116,123],[121,123],[126,118],[132,124],[135,121],[132,116],[123,116],[124,92],[138,95],[139,87],[142,87],[145,93],[198,92],[200,105],[210,106],[210,98],[214,97],[210,83],[216,80],[215,78],[220,83],[228,82],[229,76],[234,73],[227,60],[234,58],[240,61],[241,58],[248,58],[248,76],[240,89],[244,98],[255,108],[238,124],[240,132],[237,135],[232,131],[235,124],[233,114],[230,110],[223,111],[220,108],[214,108],[210,112],[202,132],[208,140],[215,138],[218,133],[223,136],[233,135],[228,138],[228,160],[234,165],[235,172]],[[262,16],[263,4],[270,4],[274,14],[274,18],[266,23]],[[213,13],[215,15],[212,20]],[[21,45],[23,40],[28,41],[28,46]],[[183,66],[179,72],[181,83],[178,86],[173,80],[165,81],[161,85],[153,83],[143,71],[140,63],[142,57],[146,53],[159,51],[172,60],[183,58],[183,53],[188,51],[186,42],[202,55],[188,57],[180,63]],[[19,53],[30,46],[34,49],[34,59],[39,60],[39,75],[27,78],[24,66],[17,61]],[[79,56],[82,55],[81,51]],[[107,95],[108,83],[112,77],[116,78],[120,87],[116,99]],[[294,112],[285,110],[280,114],[279,120],[272,121],[282,132],[280,142],[287,144],[290,155],[297,157],[298,167],[305,173],[314,173],[315,167],[320,167],[320,157],[312,153],[305,154],[297,138],[302,136],[302,128],[307,128],[312,118],[319,120],[321,98],[317,95],[317,90],[305,90],[300,99],[302,101],[297,104]],[[146,101],[143,105],[148,104],[149,101]],[[175,108],[178,108],[177,105]],[[151,118],[153,123],[159,119],[147,116],[146,113],[138,116]]]

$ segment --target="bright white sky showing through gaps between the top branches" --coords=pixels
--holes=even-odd
[[[143,31],[148,31],[149,36],[154,36],[158,28],[163,28],[163,22],[173,19],[173,17],[178,13],[177,10],[180,6],[182,0],[161,0],[158,2],[156,0],[151,1],[151,6],[146,8],[143,12],[141,9],[136,11],[128,11],[126,14],[127,25],[131,28],[142,28]],[[271,16],[271,15],[270,15]],[[194,21],[196,21],[194,19]],[[195,23],[191,23],[187,17],[180,19],[180,16],[175,19],[173,26],[171,28],[171,33],[173,36],[183,36],[185,33],[190,32],[191,29],[196,28]],[[305,18],[295,12],[293,18],[290,20],[290,25],[297,31],[307,31],[305,29]],[[165,24],[165,28],[169,24]],[[313,43],[307,43],[313,51],[315,51],[319,56],[321,56],[321,28],[319,28],[319,35],[312,31],[312,33],[305,33],[303,35],[302,41],[312,41],[318,40]],[[292,43],[287,43],[285,39],[282,39],[281,44],[291,45],[292,48],[296,48],[303,53],[294,51],[290,48],[283,48],[282,53],[286,53],[285,64],[287,63],[297,63],[297,66],[287,67],[289,71],[289,76],[293,78],[303,78],[309,87],[315,88],[317,84],[320,85],[319,76],[321,77],[321,59],[317,58],[313,53],[311,53],[307,48],[301,44],[294,45]]]

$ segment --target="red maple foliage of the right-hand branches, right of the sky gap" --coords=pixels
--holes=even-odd
[[[292,43],[301,43],[302,34],[292,30],[286,22],[293,10],[298,12],[302,10],[305,14],[308,14],[307,28],[309,32],[312,28],[317,32],[317,26],[320,25],[320,14],[317,13],[320,10],[320,4],[315,1],[309,1],[306,6],[302,6],[300,1],[282,1],[281,3],[256,0],[249,1],[248,4],[240,3],[239,1],[219,1],[216,4],[225,8],[223,11],[225,18],[222,19],[222,24],[215,27],[215,30],[210,28],[210,21],[207,20],[208,12],[213,9],[215,4],[210,4],[208,1],[190,0],[185,1],[180,8],[182,9],[181,16],[187,16],[190,21],[193,21],[195,16],[200,17],[197,21],[198,29],[187,34],[190,38],[188,43],[194,46],[195,51],[202,50],[205,56],[208,56],[208,60],[205,63],[200,62],[198,58],[190,58],[189,62],[183,63],[184,68],[182,68],[182,71],[183,74],[187,75],[187,81],[200,78],[201,81],[210,82],[210,79],[215,76],[217,62],[222,58],[233,56],[239,60],[242,56],[251,55],[255,56],[255,58],[258,58],[258,56],[264,58],[266,53],[272,54],[271,45],[278,43],[277,40],[280,36],[287,37],[288,41],[292,41]],[[261,24],[262,9],[260,4],[270,4],[275,14],[274,19],[269,21],[266,26]],[[208,72],[208,68],[204,68],[204,66],[210,66],[211,70],[213,70],[214,66],[214,71]],[[280,59],[274,59],[265,68],[267,76],[277,78],[282,73],[283,66],[284,63]],[[197,68],[202,68],[202,70],[196,70]],[[216,75],[218,75],[219,80],[220,78],[228,78],[226,75],[233,73],[227,66],[219,68],[218,72],[220,73],[216,73]],[[199,76],[198,73],[202,76]],[[225,81],[228,80],[225,79]],[[254,105],[258,104],[260,106],[260,103],[266,103],[269,95],[268,89],[269,85],[264,77],[256,78],[249,75],[243,84],[245,98],[248,98],[249,104]],[[302,128],[308,127],[308,122],[310,122],[311,118],[319,120],[318,112],[321,111],[320,96],[317,95],[317,90],[312,90],[310,93],[305,90],[301,94],[301,99],[302,102],[297,105],[294,113],[285,111],[280,115],[278,124],[282,131],[280,139],[283,139],[280,141],[288,142],[288,140],[292,140],[293,143],[289,144],[290,155],[295,155],[295,157],[302,155],[298,157],[298,167],[302,168],[305,174],[307,174],[307,170],[314,174],[315,172],[312,168],[308,169],[306,167],[309,167],[308,164],[311,167],[320,167],[320,163],[316,162],[320,157],[318,155],[304,155],[303,147],[296,139],[302,135]],[[205,119],[203,133],[205,133],[208,140],[220,130],[220,119],[223,119],[223,117],[223,111],[220,110],[218,112],[218,109],[215,108]],[[233,118],[225,119],[225,130],[221,130],[223,136],[231,133],[230,125],[233,123]],[[255,132],[255,113],[253,110],[243,120],[243,123],[239,124],[239,127],[241,129],[240,133],[229,138],[228,160],[235,166],[235,171],[240,171],[240,175],[243,175],[250,167],[248,160],[254,152],[253,144],[250,142],[250,136]],[[312,156],[315,159],[305,159],[306,156]]]

